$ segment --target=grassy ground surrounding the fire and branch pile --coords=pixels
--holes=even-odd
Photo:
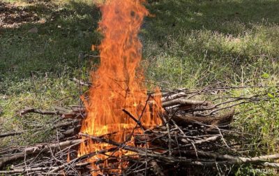
[[[149,1],[140,38],[142,66],[162,89],[263,85],[272,101],[240,105],[234,128],[252,133],[254,154],[278,152],[279,1]],[[0,130],[33,129],[56,117],[20,117],[24,106],[77,104],[96,67],[100,11],[93,1],[0,2]],[[78,57],[79,54],[84,57]],[[148,85],[149,87],[152,84]],[[238,89],[240,95],[263,88]],[[55,118],[55,119],[54,119]],[[47,132],[47,133],[46,133]],[[2,139],[0,147],[51,140],[54,131]]]

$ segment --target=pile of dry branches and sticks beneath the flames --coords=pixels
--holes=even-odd
[[[264,94],[248,97],[224,97],[218,94],[220,91],[239,88],[164,91],[162,102],[165,113],[161,116],[164,123],[153,129],[142,126],[140,119],[123,110],[136,122],[135,129],[143,131],[140,135],[133,132],[129,134],[134,137],[134,145],[129,145],[128,141],[116,142],[105,136],[80,133],[81,121],[86,117],[85,108],[81,105],[56,107],[55,110],[25,108],[20,115],[59,115],[64,122],[49,126],[50,129],[59,131],[55,142],[1,149],[0,168],[6,170],[1,170],[0,175],[208,175],[213,172],[229,173],[234,166],[246,164],[279,168],[276,163],[279,154],[256,157],[241,154],[239,141],[245,140],[246,135],[232,131],[229,126],[235,115],[234,106],[268,101],[269,97],[263,96]],[[210,101],[207,99],[209,97]],[[40,130],[42,129],[34,129]],[[25,132],[2,133],[0,138]],[[77,156],[81,136],[96,143],[107,143],[111,147]],[[114,156],[114,152],[119,149],[132,154],[121,158]],[[93,170],[88,159],[100,154],[107,157],[93,163],[100,168]],[[127,163],[127,166],[119,167],[121,162]]]

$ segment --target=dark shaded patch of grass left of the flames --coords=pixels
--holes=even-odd
[[[91,53],[91,45],[99,43],[100,14],[93,3],[68,1],[58,6],[40,2],[24,10],[38,15],[40,22],[0,29],[0,77],[21,79],[74,70],[78,54]]]

